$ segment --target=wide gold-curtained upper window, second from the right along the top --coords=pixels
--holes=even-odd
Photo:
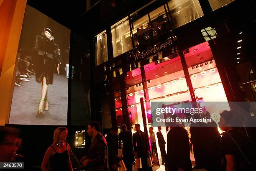
[[[173,29],[203,16],[198,0],[170,0],[168,6]]]

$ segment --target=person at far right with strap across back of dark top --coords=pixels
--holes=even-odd
[[[232,120],[236,122],[236,125]],[[238,131],[242,123],[243,117],[234,110],[224,110],[220,113],[218,124],[220,129],[225,131],[222,133],[221,147],[226,171],[253,171],[256,168],[255,144]]]

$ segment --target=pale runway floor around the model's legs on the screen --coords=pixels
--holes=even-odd
[[[67,125],[68,79],[54,74],[48,89],[49,110],[39,114],[41,84],[36,82],[35,75],[31,77],[30,82],[22,82],[23,87],[14,87],[9,124]]]

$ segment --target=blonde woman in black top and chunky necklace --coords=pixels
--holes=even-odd
[[[42,171],[48,171],[49,161],[52,171],[74,171],[69,157],[70,145],[66,143],[67,134],[66,127],[59,127],[54,131],[54,142],[44,155]]]

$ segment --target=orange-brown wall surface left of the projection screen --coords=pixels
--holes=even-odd
[[[0,125],[9,121],[13,77],[27,0],[0,0]]]

